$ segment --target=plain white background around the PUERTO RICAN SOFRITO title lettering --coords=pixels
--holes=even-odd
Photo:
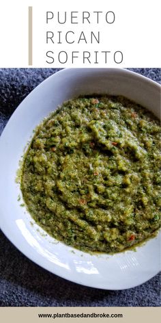
[[[0,67],[28,66],[28,7],[33,6],[33,66],[31,67],[160,67],[160,1],[159,0],[5,0],[0,8]],[[78,24],[71,25],[70,19],[59,25],[53,19],[46,25],[46,11],[78,12]],[[91,24],[81,23],[81,13],[91,13]],[[102,11],[98,24],[92,18],[93,11]],[[107,24],[105,14],[115,12],[115,23]],[[100,44],[46,44],[46,31],[69,31],[79,35],[84,31],[100,31]],[[78,36],[74,39],[77,39]],[[55,63],[46,63],[46,51],[54,51]],[[59,51],[68,52],[67,64],[57,60]],[[71,51],[111,51],[107,64],[99,55],[99,64],[83,64],[82,55],[71,64]],[[116,64],[113,53],[122,51],[123,62]],[[93,60],[94,62],[94,60]]]

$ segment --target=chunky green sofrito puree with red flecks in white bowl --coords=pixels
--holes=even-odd
[[[40,227],[78,249],[115,253],[160,227],[160,123],[123,96],[63,103],[35,130],[21,190]]]

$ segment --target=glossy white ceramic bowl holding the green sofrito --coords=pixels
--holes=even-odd
[[[29,259],[69,281],[102,289],[127,289],[160,270],[160,237],[115,255],[90,255],[57,242],[38,227],[18,201],[16,170],[33,129],[57,105],[80,94],[123,95],[160,116],[158,83],[117,68],[69,68],[52,75],[20,103],[0,138],[0,225]]]

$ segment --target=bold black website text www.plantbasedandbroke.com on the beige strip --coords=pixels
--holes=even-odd
[[[38,313],[38,318],[123,318],[121,313]]]

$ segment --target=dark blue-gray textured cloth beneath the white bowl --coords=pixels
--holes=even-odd
[[[159,68],[130,68],[160,82]],[[0,69],[0,132],[18,104],[53,68]],[[160,274],[123,291],[93,289],[65,281],[31,262],[0,233],[0,306],[160,306]]]

